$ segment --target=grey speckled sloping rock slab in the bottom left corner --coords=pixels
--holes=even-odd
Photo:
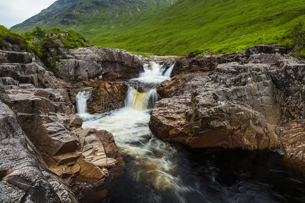
[[[9,107],[0,102],[0,112],[0,201],[78,202],[48,170]]]

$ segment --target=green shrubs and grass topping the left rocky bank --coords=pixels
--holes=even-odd
[[[39,27],[36,27],[32,32],[19,35],[0,26],[0,49],[3,46],[5,47],[7,43],[17,45],[21,50],[35,54],[53,72],[56,72],[55,63],[61,56],[53,56],[50,53],[50,49],[59,47],[65,49],[88,47],[89,45],[84,39],[82,35],[72,30],[41,30]]]

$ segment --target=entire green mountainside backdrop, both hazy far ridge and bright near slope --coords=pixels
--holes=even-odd
[[[94,45],[159,55],[279,43],[305,56],[304,22],[303,0],[59,0],[12,30],[74,29]]]

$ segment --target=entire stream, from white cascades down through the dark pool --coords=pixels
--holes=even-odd
[[[286,199],[304,200],[305,189],[301,186],[305,183],[304,174],[294,170],[291,172],[282,165],[274,167],[272,165],[272,170],[277,171],[280,168],[279,172],[273,171],[272,174],[282,175],[284,178],[278,184],[284,183],[296,187],[293,191],[288,189],[287,194],[282,195],[282,190],[274,187],[276,181],[272,183],[273,186],[270,186],[259,178],[259,180],[253,179],[253,171],[249,172],[248,168],[251,164],[247,161],[241,171],[232,169],[232,164],[236,164],[236,168],[239,168],[238,165],[244,160],[251,162],[253,158],[251,158],[251,154],[248,154],[250,152],[189,150],[165,143],[154,137],[148,128],[148,121],[150,110],[157,100],[155,86],[170,79],[172,68],[173,64],[167,68],[165,65],[154,62],[146,64],[139,77],[129,81],[125,107],[108,113],[89,115],[86,113],[86,99],[89,92],[78,93],[77,110],[78,115],[84,120],[82,127],[111,132],[126,162],[124,174],[113,179],[110,184],[109,198],[86,202],[285,202]],[[274,152],[256,153],[258,162],[265,156],[262,154],[272,154],[269,155],[270,159],[282,161],[281,156]],[[243,157],[243,154],[246,156]],[[233,156],[232,162],[226,162],[230,158],[227,155]],[[240,161],[239,158],[235,160],[234,158],[238,156],[244,160]],[[223,162],[223,166],[228,165],[228,167],[221,168],[219,161]],[[222,177],[223,172],[228,177]],[[289,179],[286,177],[286,173],[293,175]],[[268,177],[272,176],[267,173],[263,174]],[[219,177],[223,179],[219,180]],[[227,180],[231,179],[234,180],[227,183]]]

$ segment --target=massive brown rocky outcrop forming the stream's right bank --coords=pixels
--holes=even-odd
[[[278,53],[242,60],[202,63],[200,72],[163,82],[157,90],[163,99],[151,112],[151,131],[194,148],[279,148],[304,161],[305,62]]]

